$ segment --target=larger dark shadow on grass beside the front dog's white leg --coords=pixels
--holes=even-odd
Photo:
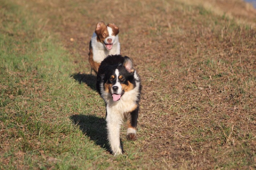
[[[78,125],[82,132],[89,136],[97,145],[109,151],[106,121],[93,115],[72,115],[70,119]]]

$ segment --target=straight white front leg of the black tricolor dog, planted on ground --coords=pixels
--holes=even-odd
[[[122,154],[122,146],[120,143],[120,126],[122,119],[115,112],[110,112],[111,109],[107,107],[107,130],[108,130],[108,140],[110,148],[114,155]]]

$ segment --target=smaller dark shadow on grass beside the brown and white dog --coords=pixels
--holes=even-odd
[[[91,89],[96,90],[96,75],[84,74],[84,73],[74,73],[70,77],[73,77],[76,81],[81,83],[86,83]]]

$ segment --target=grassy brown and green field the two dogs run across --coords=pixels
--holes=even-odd
[[[120,156],[88,63],[99,21],[143,86]],[[255,169],[255,23],[239,0],[0,0],[0,169]]]

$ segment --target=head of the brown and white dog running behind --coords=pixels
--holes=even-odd
[[[103,43],[107,50],[111,50],[116,35],[119,33],[119,28],[115,24],[106,26],[104,22],[99,22],[96,25],[95,33],[97,34],[97,41]]]

